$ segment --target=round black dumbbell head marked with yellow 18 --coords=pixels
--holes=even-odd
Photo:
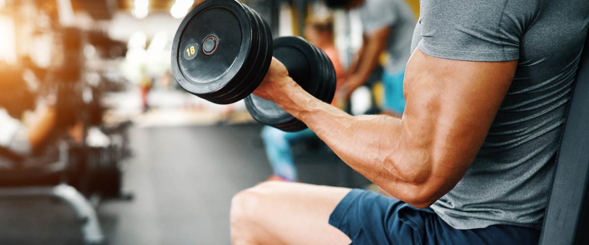
[[[237,102],[262,82],[259,73],[270,66],[269,33],[263,19],[240,2],[204,1],[188,13],[174,37],[174,78],[211,102]]]

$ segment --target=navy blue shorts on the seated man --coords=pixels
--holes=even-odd
[[[352,190],[337,204],[329,224],[343,231],[352,244],[538,244],[540,230],[489,226],[458,230],[432,209],[366,190]]]

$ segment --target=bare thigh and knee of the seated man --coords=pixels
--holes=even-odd
[[[231,202],[231,240],[243,244],[350,244],[329,216],[350,192],[342,187],[264,182]]]

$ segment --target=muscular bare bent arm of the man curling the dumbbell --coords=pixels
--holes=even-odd
[[[477,155],[517,61],[468,62],[416,49],[405,74],[402,119],[350,116],[313,98],[276,59],[256,95],[302,120],[348,165],[404,202],[427,207]]]

